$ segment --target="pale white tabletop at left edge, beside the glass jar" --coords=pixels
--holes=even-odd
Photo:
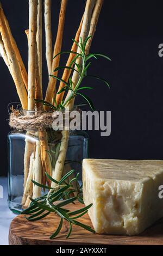
[[[8,208],[7,178],[0,177],[0,186],[3,187],[3,199],[0,198],[0,245],[8,245],[10,223],[16,215]]]

